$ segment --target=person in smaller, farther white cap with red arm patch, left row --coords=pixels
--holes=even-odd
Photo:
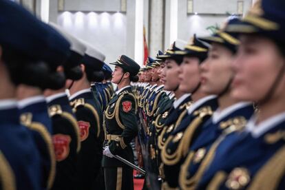
[[[103,147],[103,112],[90,89],[92,81],[102,81],[105,55],[84,43],[87,50],[82,60],[83,77],[70,87],[70,103],[80,128],[82,169],[81,189],[96,189],[96,177],[101,171]]]

